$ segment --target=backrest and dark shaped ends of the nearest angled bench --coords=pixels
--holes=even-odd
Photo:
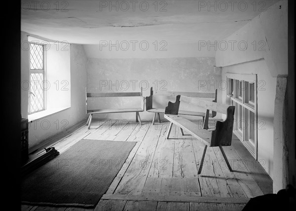
[[[178,95],[176,97],[175,103],[168,103],[168,106],[165,108],[165,114],[178,114],[180,98],[182,102],[186,102],[191,105],[206,109],[203,129],[208,129],[209,110],[225,114],[225,121],[217,121],[216,128],[212,131],[212,139],[210,142],[210,146],[214,147],[231,145],[235,106],[229,106],[222,103],[216,103],[202,99]]]

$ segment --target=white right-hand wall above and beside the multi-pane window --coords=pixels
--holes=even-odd
[[[273,117],[276,77],[288,74],[288,2],[279,1],[225,38],[216,65],[225,73],[258,74],[258,160],[273,177]],[[241,46],[238,43],[241,42]],[[231,48],[231,43],[234,43]],[[245,49],[244,43],[248,48]],[[256,45],[255,45],[256,43]],[[225,102],[225,91],[222,92]],[[263,124],[263,125],[262,125]]]

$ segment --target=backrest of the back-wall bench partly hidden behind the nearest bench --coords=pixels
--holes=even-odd
[[[197,97],[197,98],[214,98],[213,102],[217,102],[217,89],[215,93],[209,92],[184,92],[184,91],[153,91],[153,88],[150,88],[150,96],[146,97],[146,110],[152,109],[153,95],[162,95],[162,96],[187,96],[187,97]],[[179,108],[178,108],[179,109]],[[216,112],[212,111],[212,117],[216,116]]]

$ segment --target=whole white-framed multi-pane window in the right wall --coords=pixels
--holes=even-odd
[[[257,159],[257,75],[226,73],[226,102],[235,106],[233,132]]]

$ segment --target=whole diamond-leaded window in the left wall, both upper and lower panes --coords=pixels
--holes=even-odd
[[[45,109],[44,107],[44,46],[30,43],[30,90],[29,114]]]

